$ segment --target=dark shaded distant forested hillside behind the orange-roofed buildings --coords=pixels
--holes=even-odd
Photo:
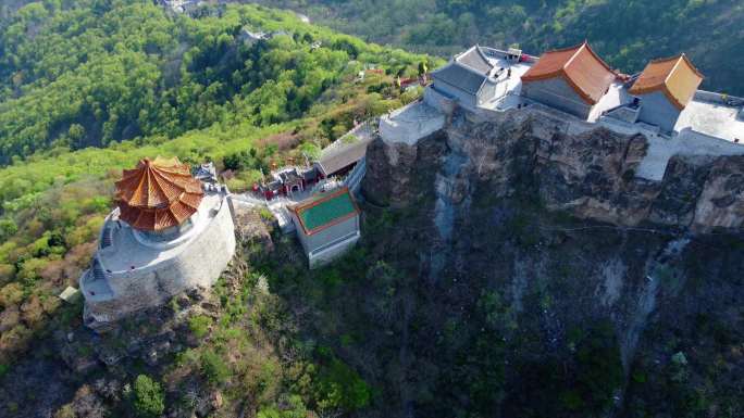
[[[473,43],[531,53],[588,39],[632,73],[686,52],[703,88],[744,94],[744,3],[739,0],[260,0],[348,34],[447,56]]]

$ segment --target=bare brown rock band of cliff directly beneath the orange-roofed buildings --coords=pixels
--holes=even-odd
[[[702,232],[743,226],[744,156],[678,155],[661,181],[650,181],[635,176],[647,147],[642,135],[582,129],[538,111],[493,113],[485,121],[460,114],[416,145],[374,143],[365,191],[405,206],[422,191],[414,177],[434,169],[436,188],[455,201],[464,190],[497,198],[528,193],[549,210],[619,226]],[[460,160],[458,173],[448,177],[452,156]],[[475,190],[479,183],[485,189]]]

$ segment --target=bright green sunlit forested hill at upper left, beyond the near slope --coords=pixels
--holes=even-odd
[[[382,61],[319,29],[250,48],[241,29],[266,21],[246,10],[199,20],[169,16],[151,1],[46,1],[18,10],[0,25],[0,164],[47,148],[174,138],[218,122],[292,121],[342,73],[354,74],[349,60]],[[264,14],[275,18],[266,31],[296,22]],[[324,48],[311,51],[315,40]]]

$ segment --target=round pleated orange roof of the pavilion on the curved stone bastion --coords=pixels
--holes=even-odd
[[[181,225],[197,212],[203,191],[178,159],[140,160],[116,181],[119,217],[133,228],[159,231]]]

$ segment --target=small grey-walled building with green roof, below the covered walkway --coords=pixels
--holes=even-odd
[[[289,212],[310,268],[336,258],[361,236],[359,208],[346,187],[315,194]]]

